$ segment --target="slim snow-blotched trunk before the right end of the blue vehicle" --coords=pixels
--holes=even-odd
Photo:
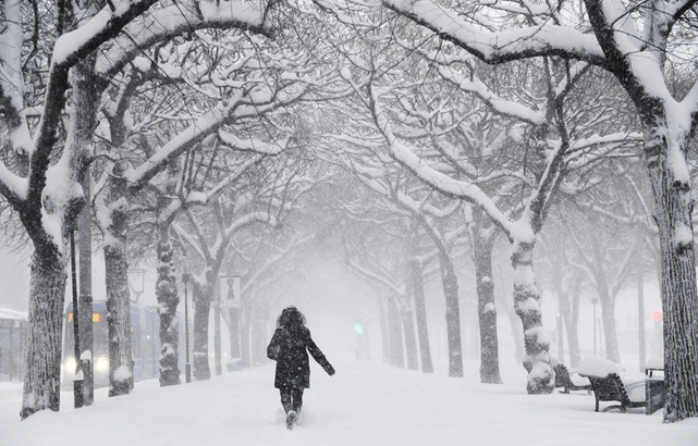
[[[180,305],[174,251],[170,243],[169,224],[158,228],[158,282],[156,297],[160,315],[160,386],[181,384],[179,367],[180,327],[176,308]]]

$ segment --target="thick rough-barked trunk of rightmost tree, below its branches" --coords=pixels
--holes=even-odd
[[[659,120],[659,119],[658,119]],[[647,125],[645,154],[654,193],[664,312],[664,421],[698,417],[698,293],[693,243],[693,198],[668,165],[666,126]],[[683,148],[682,148],[683,149]],[[684,151],[685,152],[685,151]],[[684,234],[690,234],[686,236]]]

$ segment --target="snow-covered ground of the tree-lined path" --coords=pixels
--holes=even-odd
[[[287,431],[273,366],[225,373],[207,382],[160,388],[140,382],[128,396],[98,391],[89,408],[42,411],[20,422],[20,384],[0,387],[0,445],[4,446],[695,446],[698,420],[663,424],[646,416],[593,412],[584,393],[529,396],[524,372],[503,367],[503,385],[423,374],[377,362],[335,364],[329,377],[313,369],[298,426]]]

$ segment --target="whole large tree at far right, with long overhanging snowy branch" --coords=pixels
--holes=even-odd
[[[615,76],[642,124],[656,199],[669,385],[664,420],[698,417],[698,326],[687,322],[698,318],[698,290],[686,164],[697,124],[698,87],[674,91],[664,74],[682,59],[686,40],[679,35],[694,33],[689,14],[695,2],[585,0],[584,16],[574,2],[505,1],[472,11],[431,0],[383,4],[488,63],[554,55],[598,65]]]

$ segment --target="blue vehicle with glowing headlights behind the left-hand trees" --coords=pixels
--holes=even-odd
[[[73,331],[73,303],[69,303],[63,319],[64,385],[72,385],[75,375],[75,335]],[[184,372],[184,317],[177,313],[180,327],[179,368]],[[109,327],[107,303],[93,303],[93,371],[95,387],[109,385]],[[160,317],[157,307],[131,302],[131,349],[134,381],[160,377]]]

